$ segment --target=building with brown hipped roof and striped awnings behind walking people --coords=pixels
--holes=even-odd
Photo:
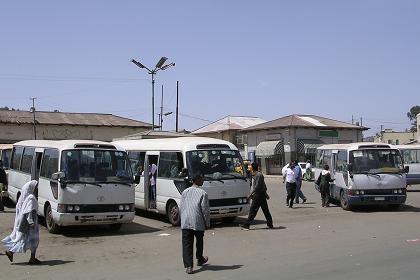
[[[266,174],[281,174],[290,160],[314,162],[323,144],[361,142],[368,128],[314,115],[290,115],[242,131],[248,159]]]

